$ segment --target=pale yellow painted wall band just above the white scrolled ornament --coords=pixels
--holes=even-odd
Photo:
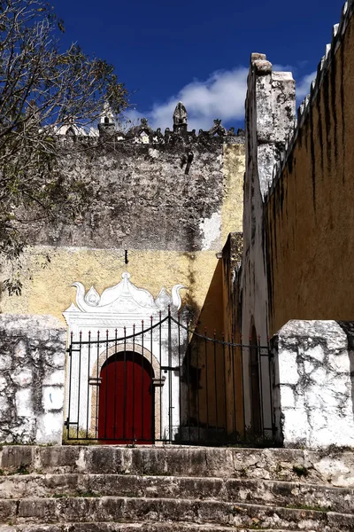
[[[50,265],[38,268],[40,254],[50,253]],[[182,283],[188,291],[187,300],[201,308],[209,289],[211,272],[218,259],[215,252],[194,254],[172,251],[131,250],[128,264],[124,263],[122,250],[58,247],[35,247],[35,254],[27,252],[27,267],[34,272],[27,278],[21,297],[3,294],[2,309],[6,312],[25,314],[52,314],[62,321],[63,310],[75,301],[73,282],[81,281],[87,290],[91,285],[98,293],[121,280],[124,270],[131,273],[131,281],[150,291],[155,297],[165,286]]]

